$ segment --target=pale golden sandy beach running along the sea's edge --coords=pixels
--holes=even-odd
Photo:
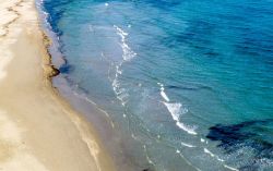
[[[0,170],[114,170],[87,122],[51,86],[34,0],[0,2]]]

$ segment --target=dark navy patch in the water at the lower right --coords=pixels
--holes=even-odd
[[[259,170],[259,162],[273,160],[273,120],[247,121],[238,124],[216,124],[210,127],[206,135],[211,141],[217,141],[217,147],[223,148],[226,155],[240,154],[240,149],[250,149],[240,154],[240,157],[249,155],[251,157],[240,170]],[[240,162],[240,161],[239,161]]]

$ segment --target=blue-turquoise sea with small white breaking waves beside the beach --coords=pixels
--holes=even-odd
[[[273,1],[41,4],[60,76],[107,112],[119,166],[273,170]]]

